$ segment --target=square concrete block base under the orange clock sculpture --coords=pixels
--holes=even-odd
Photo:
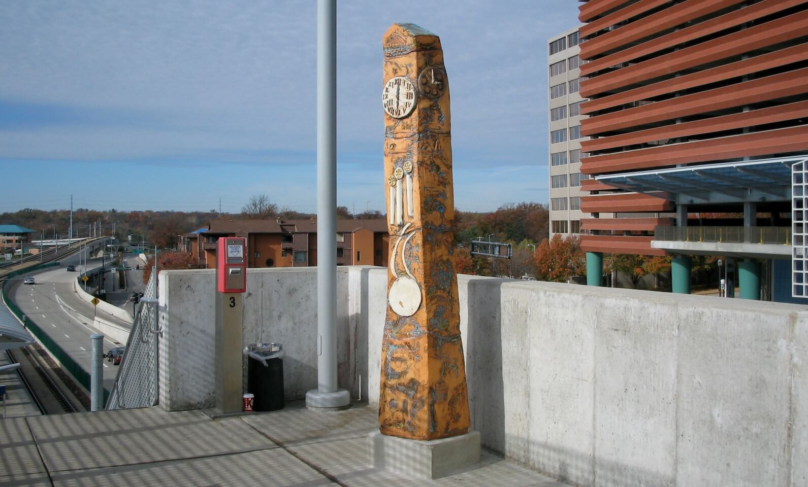
[[[438,479],[480,463],[480,433],[420,440],[373,431],[368,435],[368,454],[374,468]]]

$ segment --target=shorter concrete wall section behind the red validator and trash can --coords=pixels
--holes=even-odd
[[[198,409],[214,405],[215,270],[161,271],[160,403],[163,408]],[[349,334],[348,267],[337,272],[338,380],[353,384],[356,359],[367,350]],[[302,399],[317,388],[317,269],[250,269],[244,294],[243,345],[279,342],[284,346],[284,396]],[[353,329],[356,331],[357,326]],[[246,358],[245,358],[246,367]],[[348,365],[349,363],[354,365]],[[365,366],[366,368],[366,366]],[[246,377],[246,373],[245,373]],[[246,379],[245,379],[246,389]],[[351,393],[356,397],[355,388]]]

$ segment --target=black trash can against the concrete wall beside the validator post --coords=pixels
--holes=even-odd
[[[280,343],[253,343],[247,361],[247,392],[254,411],[284,408],[284,351]]]

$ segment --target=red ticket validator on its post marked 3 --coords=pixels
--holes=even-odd
[[[213,418],[241,414],[242,293],[247,290],[243,237],[221,237],[216,246],[216,408]]]

